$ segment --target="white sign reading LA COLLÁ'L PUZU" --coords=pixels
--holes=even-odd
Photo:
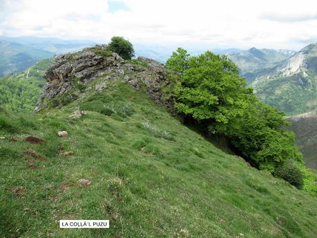
[[[109,220],[60,220],[59,228],[109,228]]]

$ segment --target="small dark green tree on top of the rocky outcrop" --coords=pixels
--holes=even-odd
[[[131,59],[134,57],[132,43],[123,37],[112,37],[107,49],[111,50],[112,52],[116,52],[123,59]]]

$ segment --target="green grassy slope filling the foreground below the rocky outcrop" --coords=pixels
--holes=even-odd
[[[87,115],[71,119],[78,109]],[[316,197],[225,154],[125,83],[42,115],[0,113],[0,237],[317,236]],[[59,219],[110,219],[110,229],[59,229]]]

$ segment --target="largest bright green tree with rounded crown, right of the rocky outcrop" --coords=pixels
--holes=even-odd
[[[182,61],[182,60],[181,60]],[[252,90],[239,77],[238,68],[227,57],[205,52],[190,57],[187,70],[176,85],[176,110],[196,120],[228,123],[242,116]]]

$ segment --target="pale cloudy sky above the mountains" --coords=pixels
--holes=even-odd
[[[197,48],[317,43],[316,0],[0,0],[0,36]]]

